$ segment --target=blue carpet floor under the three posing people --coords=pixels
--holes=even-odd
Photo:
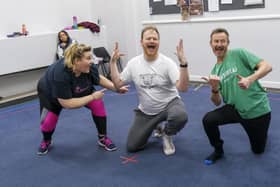
[[[214,165],[203,164],[212,152],[202,128],[203,115],[214,105],[209,88],[191,87],[181,94],[189,122],[174,137],[176,154],[165,156],[161,139],[151,137],[141,152],[126,152],[126,138],[137,106],[132,87],[126,95],[107,92],[108,135],[118,146],[107,152],[97,145],[97,132],[90,111],[63,110],[53,147],[48,155],[37,156],[41,141],[38,100],[0,109],[0,186],[203,186],[240,187],[280,185],[280,94],[269,93],[272,121],[266,152],[254,155],[240,125],[221,128],[225,158]],[[125,158],[130,158],[130,161]]]

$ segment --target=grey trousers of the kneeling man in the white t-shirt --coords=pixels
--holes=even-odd
[[[173,99],[165,110],[157,115],[147,115],[135,109],[134,122],[127,138],[127,150],[135,152],[143,149],[153,130],[164,121],[166,122],[164,132],[170,136],[185,126],[188,116],[185,104],[180,98]]]

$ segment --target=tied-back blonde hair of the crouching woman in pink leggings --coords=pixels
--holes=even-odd
[[[85,52],[90,52],[91,47],[85,44],[73,43],[64,53],[64,65],[73,69],[75,60],[80,60]]]

